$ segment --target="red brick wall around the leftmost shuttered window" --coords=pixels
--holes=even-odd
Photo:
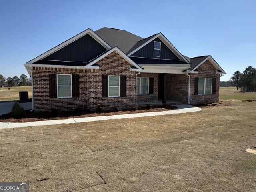
[[[33,94],[34,111],[50,112],[51,108],[60,111],[74,110],[76,107],[87,108],[87,84],[88,70],[33,67]],[[49,74],[79,74],[80,98],[50,98]]]

